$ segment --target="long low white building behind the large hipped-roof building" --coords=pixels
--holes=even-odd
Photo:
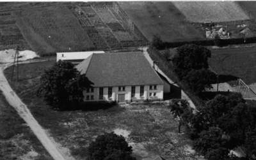
[[[89,52],[59,52],[57,53],[57,62],[68,61],[73,64],[79,64],[84,61],[84,59],[88,58],[92,54],[104,54],[104,51],[89,51]]]

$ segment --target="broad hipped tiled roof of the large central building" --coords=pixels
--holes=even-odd
[[[164,84],[141,52],[92,54],[76,68],[93,87]]]

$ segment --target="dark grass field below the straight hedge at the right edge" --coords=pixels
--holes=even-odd
[[[256,83],[255,48],[212,50],[211,68],[221,75],[241,78],[247,85]]]

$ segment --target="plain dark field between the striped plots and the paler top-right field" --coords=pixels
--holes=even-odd
[[[148,40],[159,34],[163,41],[204,40],[203,34],[186,22],[172,2],[118,2]]]

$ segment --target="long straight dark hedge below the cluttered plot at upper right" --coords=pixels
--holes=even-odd
[[[220,46],[227,46],[227,45],[239,45],[239,44],[246,44],[246,43],[256,43],[256,37],[250,38],[231,38],[220,40]],[[166,48],[176,48],[186,44],[195,44],[195,45],[202,45],[202,46],[214,46],[214,40],[201,40],[201,41],[177,41],[177,42],[166,42],[164,46]]]

